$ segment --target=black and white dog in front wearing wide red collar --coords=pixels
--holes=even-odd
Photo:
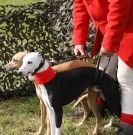
[[[120,116],[119,84],[108,74],[95,67],[80,67],[69,71],[55,72],[39,53],[31,52],[23,58],[23,64],[18,73],[23,76],[32,74],[35,77],[41,90],[41,99],[47,108],[51,135],[61,135],[63,106],[77,99],[85,89],[89,91],[90,87],[98,86],[108,104],[110,113]],[[96,73],[97,75],[95,75]],[[91,99],[92,93],[94,95],[94,91],[88,92],[88,100],[94,111],[96,108],[92,104],[96,99]],[[97,97],[96,92],[95,95]],[[96,122],[95,127],[99,126],[97,123],[100,122]],[[96,133],[93,132],[93,134]]]

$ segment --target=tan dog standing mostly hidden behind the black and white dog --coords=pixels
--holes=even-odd
[[[27,51],[24,51],[24,52],[19,52],[17,54],[15,54],[13,57],[12,57],[12,60],[4,66],[4,68],[6,70],[12,70],[12,69],[18,69],[21,65],[22,65],[22,59],[24,56],[26,56],[28,53]],[[74,61],[69,61],[69,62],[65,62],[65,63],[62,63],[62,64],[59,64],[59,65],[55,65],[53,66],[52,68],[54,70],[56,70],[57,72],[62,72],[62,71],[68,71],[68,70],[71,70],[71,69],[74,69],[74,68],[78,68],[78,67],[94,67],[94,65],[92,64],[88,64],[86,63],[85,61],[82,61],[82,60],[74,60]],[[30,78],[30,80],[33,79],[33,78]],[[33,80],[34,81],[34,80]],[[39,130],[35,133],[35,135],[40,135],[45,127],[45,118],[46,118],[46,114],[47,114],[47,110],[46,110],[46,106],[41,98],[41,91],[40,91],[40,88],[38,87],[38,85],[35,83],[34,81],[34,84],[35,84],[35,87],[36,87],[36,93],[37,93],[37,96],[40,100],[40,109],[41,109],[41,121],[40,121],[40,127],[39,127]],[[96,106],[96,107],[93,107],[94,109],[92,110],[96,116],[96,119],[97,119],[97,123],[96,126],[95,126],[95,130],[94,130],[94,134],[97,134],[98,132],[98,128],[100,126],[100,121],[101,121],[101,116],[99,115],[99,112],[96,111],[97,109],[97,103],[96,103],[96,99],[99,95],[99,92],[98,91],[94,91],[95,88],[90,88],[92,89],[92,92],[90,92],[89,94],[89,99],[91,100],[90,102],[93,104],[93,106]],[[84,108],[84,116],[83,116],[83,119],[82,121],[77,124],[78,126],[82,125],[84,123],[84,121],[86,120],[87,116],[88,116],[88,113],[90,112],[90,107],[88,107],[88,103],[87,103],[87,100],[84,98],[87,97],[87,95],[83,95],[83,97],[81,96],[81,99],[78,100],[78,102],[80,101],[83,108]],[[91,98],[92,97],[92,98]],[[92,100],[93,99],[93,100]],[[100,116],[100,117],[99,117]],[[105,127],[110,127],[112,126],[112,119],[110,120],[110,123],[105,126]],[[49,122],[47,122],[47,135],[50,135],[50,131],[49,131]]]

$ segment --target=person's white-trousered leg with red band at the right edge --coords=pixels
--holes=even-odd
[[[133,135],[133,68],[118,58],[118,81],[121,87],[122,113],[118,135]]]

